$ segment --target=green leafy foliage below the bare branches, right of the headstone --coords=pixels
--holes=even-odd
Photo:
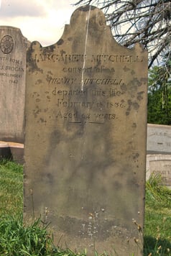
[[[148,123],[171,124],[171,58],[149,70]]]

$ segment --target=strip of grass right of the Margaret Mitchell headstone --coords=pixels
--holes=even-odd
[[[144,255],[171,255],[171,190],[156,173],[146,183]]]

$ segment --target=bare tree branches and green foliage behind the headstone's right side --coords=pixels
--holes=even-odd
[[[171,124],[171,1],[79,0],[102,9],[119,44],[149,52],[148,123]]]

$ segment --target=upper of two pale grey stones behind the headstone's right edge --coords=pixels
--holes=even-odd
[[[171,154],[171,127],[147,125],[147,154]]]

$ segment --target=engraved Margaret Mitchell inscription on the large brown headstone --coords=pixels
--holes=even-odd
[[[117,73],[117,68],[111,68],[113,62],[123,63],[124,72],[133,74],[130,68],[126,69],[125,63],[142,62],[143,59],[139,56],[133,58],[131,55],[71,55],[62,51],[61,54],[36,54],[35,60],[37,63],[50,61],[64,64],[60,76],[54,76],[52,70],[46,75],[48,91],[46,89],[44,92],[45,99],[47,102],[55,100],[58,109],[57,113],[50,114],[51,120],[75,124],[82,122],[103,124],[117,119],[119,111],[129,115],[132,108],[135,110],[139,108],[137,101],[143,99],[143,92],[137,93],[138,86],[142,86],[142,80],[134,78],[130,85],[126,85],[124,79]],[[84,61],[87,64],[81,67],[80,64]],[[107,74],[105,78],[103,73]],[[131,97],[137,96],[137,101],[126,101],[127,86],[132,88]],[[40,102],[36,92],[32,97],[37,103]],[[47,124],[48,118],[43,118],[41,111],[35,110],[33,114],[37,122]]]

